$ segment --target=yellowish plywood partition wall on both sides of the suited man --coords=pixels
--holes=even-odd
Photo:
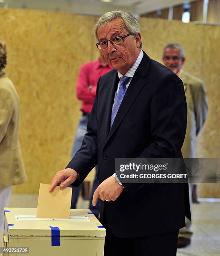
[[[99,55],[97,17],[69,13],[0,9],[0,37],[8,45],[6,72],[21,101],[20,142],[28,183],[14,192],[37,193],[69,161],[79,120],[75,95],[79,67]],[[220,27],[139,18],[143,50],[161,61],[168,42],[182,44],[184,69],[205,81],[209,116],[197,140],[197,156],[217,158],[219,143]],[[208,189],[207,189],[208,186]],[[220,186],[200,185],[199,195],[220,197]]]

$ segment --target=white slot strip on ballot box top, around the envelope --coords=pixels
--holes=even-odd
[[[49,221],[90,221],[87,216],[69,216],[69,219],[36,218],[36,215],[14,215],[15,220],[49,220]]]

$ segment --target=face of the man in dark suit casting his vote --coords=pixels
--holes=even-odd
[[[99,42],[126,34],[129,34],[129,32],[122,18],[116,18],[100,26],[97,31]],[[103,52],[105,59],[114,69],[118,70],[121,74],[125,74],[135,63],[141,51],[140,45],[141,34],[137,33],[135,36],[126,37],[122,44],[116,46],[108,42],[107,48],[99,51]]]

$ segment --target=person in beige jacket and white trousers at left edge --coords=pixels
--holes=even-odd
[[[13,185],[27,181],[18,140],[20,101],[13,83],[2,71],[7,63],[5,43],[0,40],[0,233],[4,211]]]

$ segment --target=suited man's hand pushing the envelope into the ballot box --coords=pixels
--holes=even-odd
[[[69,186],[69,184],[72,184],[77,179],[77,176],[78,176],[78,173],[71,168],[67,168],[57,172],[56,175],[54,176],[54,179],[52,179],[49,192],[52,192],[54,188],[59,184],[61,189]]]

